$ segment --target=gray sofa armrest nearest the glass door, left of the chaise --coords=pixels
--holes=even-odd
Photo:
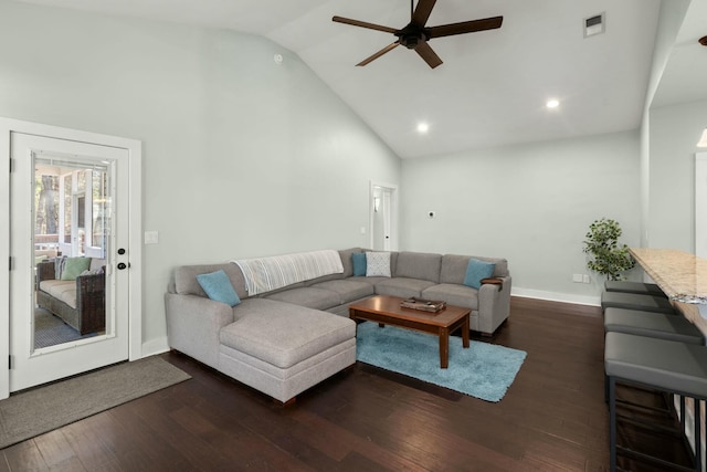
[[[219,332],[233,323],[233,308],[199,295],[165,294],[169,347],[219,367]]]

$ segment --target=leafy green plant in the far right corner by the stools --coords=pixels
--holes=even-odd
[[[602,218],[589,225],[582,251],[590,255],[587,262],[590,271],[605,275],[610,281],[626,279],[621,273],[633,269],[636,261],[626,244],[619,244],[620,237],[621,225],[615,220]]]

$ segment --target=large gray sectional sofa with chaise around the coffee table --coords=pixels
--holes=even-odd
[[[354,275],[355,248],[338,251],[341,273],[251,296],[235,263],[177,268],[165,295],[172,349],[187,354],[268,396],[287,402],[356,363],[356,324],[348,306],[373,295],[443,300],[471,308],[469,327],[493,334],[508,318],[510,274],[494,262],[494,283],[463,284],[472,256],[392,252],[391,276]],[[210,300],[197,275],[223,270],[241,303]],[[339,316],[334,316],[334,315]]]

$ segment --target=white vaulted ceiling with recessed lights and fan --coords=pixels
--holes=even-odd
[[[410,21],[407,0],[21,1],[268,38],[296,53],[402,158],[637,128],[661,9],[661,0],[439,0],[428,25],[495,15],[504,23],[433,39],[444,61],[433,70],[404,48],[357,67],[395,38],[331,21],[341,15],[402,28]],[[707,0],[694,3],[704,12]],[[584,19],[600,13],[605,32],[584,38]],[[707,55],[695,45],[707,34],[698,23],[682,32],[686,52],[668,62],[669,86],[656,94],[662,105],[707,98],[705,82],[686,84],[680,71],[695,61],[692,54]],[[547,108],[550,98],[559,107]],[[416,132],[419,122],[429,124],[426,134]]]

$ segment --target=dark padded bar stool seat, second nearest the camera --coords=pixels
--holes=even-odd
[[[604,331],[678,343],[705,344],[703,332],[689,319],[665,313],[610,307],[604,312]]]

